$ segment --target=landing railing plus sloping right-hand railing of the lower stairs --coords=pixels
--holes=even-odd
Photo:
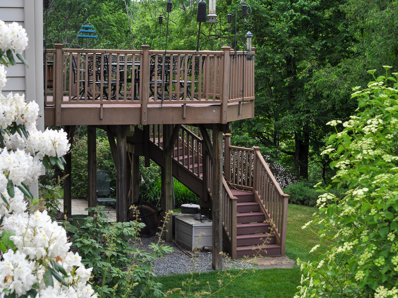
[[[231,185],[254,192],[256,201],[275,232],[276,244],[285,254],[288,194],[284,194],[260,153],[260,147],[231,146],[225,134],[224,174]]]

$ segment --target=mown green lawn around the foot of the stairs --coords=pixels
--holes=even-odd
[[[310,229],[303,230],[301,227],[308,221],[312,220],[312,214],[318,212],[317,208],[304,207],[289,204],[287,219],[287,237],[286,237],[286,255],[292,259],[298,257],[303,261],[317,259],[319,253],[309,253],[312,247],[319,244],[319,237]],[[314,228],[314,225],[310,225]],[[315,228],[314,228],[315,229]],[[320,251],[326,249],[327,244],[323,243],[319,248]],[[230,270],[231,275],[237,275],[240,271]],[[219,289],[218,280],[221,274],[216,271],[209,273],[195,273],[193,275],[193,283],[191,286],[191,294],[202,291],[215,292]],[[220,298],[292,298],[300,284],[301,272],[295,266],[293,269],[261,269],[248,270],[237,277],[226,288],[217,293]],[[187,296],[189,287],[184,284],[191,279],[191,275],[172,275],[164,277],[156,277],[155,281],[163,284],[163,291],[169,289],[182,288],[168,295],[168,297],[184,297]],[[224,279],[224,284],[227,282]],[[207,284],[209,282],[209,284]],[[181,291],[185,292],[181,294]],[[206,296],[206,295],[205,295]]]

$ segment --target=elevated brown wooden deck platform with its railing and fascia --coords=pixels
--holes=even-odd
[[[45,125],[227,124],[254,117],[254,60],[222,51],[47,50]]]

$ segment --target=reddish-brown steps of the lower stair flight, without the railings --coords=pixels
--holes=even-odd
[[[281,246],[275,244],[275,234],[252,192],[231,189],[238,198],[236,203],[236,256],[281,255]]]

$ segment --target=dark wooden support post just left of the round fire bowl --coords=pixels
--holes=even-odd
[[[116,126],[116,147],[117,147],[117,166],[116,166],[116,221],[124,223],[127,221],[127,191],[126,191],[126,157],[127,140],[125,130],[122,125]]]

